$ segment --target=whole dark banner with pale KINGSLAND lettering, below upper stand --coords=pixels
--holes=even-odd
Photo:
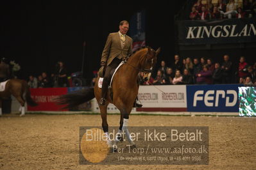
[[[256,42],[256,18],[182,20],[178,24],[180,45]]]

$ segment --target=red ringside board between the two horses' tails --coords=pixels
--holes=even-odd
[[[61,109],[64,105],[57,105],[54,100],[60,95],[67,94],[67,88],[37,88],[30,89],[31,98],[37,102],[36,107],[28,105],[28,111],[68,111]]]

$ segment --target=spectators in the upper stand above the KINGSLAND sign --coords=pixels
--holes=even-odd
[[[256,14],[256,0],[197,0],[192,5],[189,19],[232,19],[250,18]]]

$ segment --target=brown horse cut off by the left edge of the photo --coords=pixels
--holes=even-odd
[[[0,116],[2,115],[2,100],[10,98],[11,95],[17,98],[17,100],[21,104],[20,116],[25,115],[25,102],[27,102],[28,105],[31,106],[37,105],[37,103],[33,101],[30,96],[30,88],[26,81],[20,79],[10,79],[6,82],[4,91],[0,91]]]

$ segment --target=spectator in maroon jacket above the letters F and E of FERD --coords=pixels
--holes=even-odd
[[[196,75],[196,84],[212,84],[212,72],[207,65],[204,65],[203,70]]]

